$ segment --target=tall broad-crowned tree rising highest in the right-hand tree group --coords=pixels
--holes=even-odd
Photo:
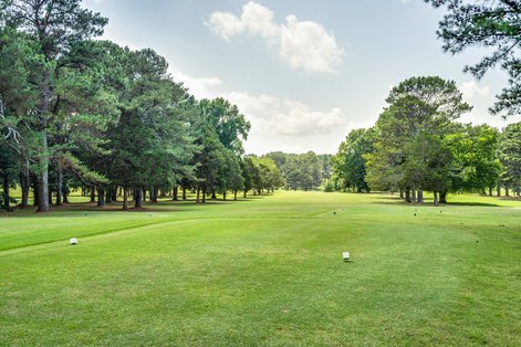
[[[437,76],[411,77],[394,87],[386,101],[389,107],[382,113],[375,127],[375,150],[366,155],[367,181],[381,182],[381,187],[396,182],[405,191],[407,201],[415,200],[416,191],[421,201],[423,189],[448,188],[438,172],[448,172],[451,162],[446,161],[445,169],[439,167],[439,159],[448,158],[439,141],[448,134],[451,122],[471,109],[462,102],[455,82]],[[418,155],[417,149],[425,148],[423,144],[428,143],[442,153],[429,150]],[[440,180],[436,185],[434,177]],[[435,192],[446,194],[446,190]]]

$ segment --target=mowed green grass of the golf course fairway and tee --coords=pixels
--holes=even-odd
[[[454,200],[1,214],[0,345],[520,346],[521,202]]]

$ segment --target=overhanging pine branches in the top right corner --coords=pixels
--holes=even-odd
[[[477,78],[500,65],[509,74],[509,85],[490,111],[506,116],[521,113],[521,1],[425,0],[448,13],[439,23],[438,36],[451,54],[482,46],[491,53],[473,66],[466,66]],[[491,50],[490,50],[491,49]]]

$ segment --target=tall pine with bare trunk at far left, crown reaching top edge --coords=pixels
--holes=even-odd
[[[55,81],[59,60],[67,55],[79,42],[103,33],[107,20],[98,13],[81,8],[81,0],[1,0],[8,27],[18,28],[37,43],[40,57],[34,82],[39,85],[40,99],[31,123],[40,137],[37,156],[39,167],[39,211],[49,211],[49,160],[48,130],[53,123]]]

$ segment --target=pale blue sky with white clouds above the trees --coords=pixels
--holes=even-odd
[[[475,109],[460,122],[504,127],[488,114],[506,86],[465,64],[483,52],[442,53],[444,10],[421,0],[86,0],[107,17],[105,39],[164,55],[197,98],[222,96],[251,122],[247,153],[336,153],[374,125],[393,85],[419,75],[454,80]]]

